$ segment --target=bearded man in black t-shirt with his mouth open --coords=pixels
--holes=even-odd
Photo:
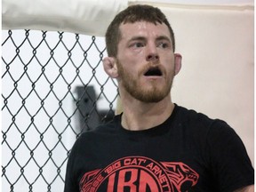
[[[111,22],[106,43],[103,65],[117,79],[123,113],[76,140],[65,192],[254,191],[236,132],[172,103],[181,56],[164,14],[132,5]]]

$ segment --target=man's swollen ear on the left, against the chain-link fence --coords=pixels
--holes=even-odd
[[[117,66],[116,66],[116,58],[114,57],[106,57],[103,59],[103,67],[105,72],[110,76],[111,78],[117,78]]]

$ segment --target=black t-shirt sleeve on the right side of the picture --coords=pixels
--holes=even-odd
[[[225,122],[216,121],[207,136],[212,176],[220,191],[254,183],[254,170],[243,141]]]

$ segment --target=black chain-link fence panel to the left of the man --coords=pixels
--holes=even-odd
[[[2,31],[2,191],[60,192],[81,132],[114,115],[104,37]]]

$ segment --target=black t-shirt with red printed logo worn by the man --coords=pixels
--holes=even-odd
[[[244,144],[225,122],[175,105],[163,124],[128,131],[121,116],[76,140],[65,192],[228,192],[254,183]]]

